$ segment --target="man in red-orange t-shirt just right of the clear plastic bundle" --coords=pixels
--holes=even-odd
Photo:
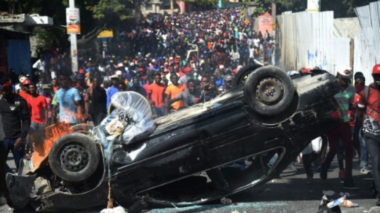
[[[156,118],[164,116],[165,85],[161,83],[160,73],[155,74],[155,82],[149,85],[148,91],[148,100],[150,102],[153,115],[155,115]]]

